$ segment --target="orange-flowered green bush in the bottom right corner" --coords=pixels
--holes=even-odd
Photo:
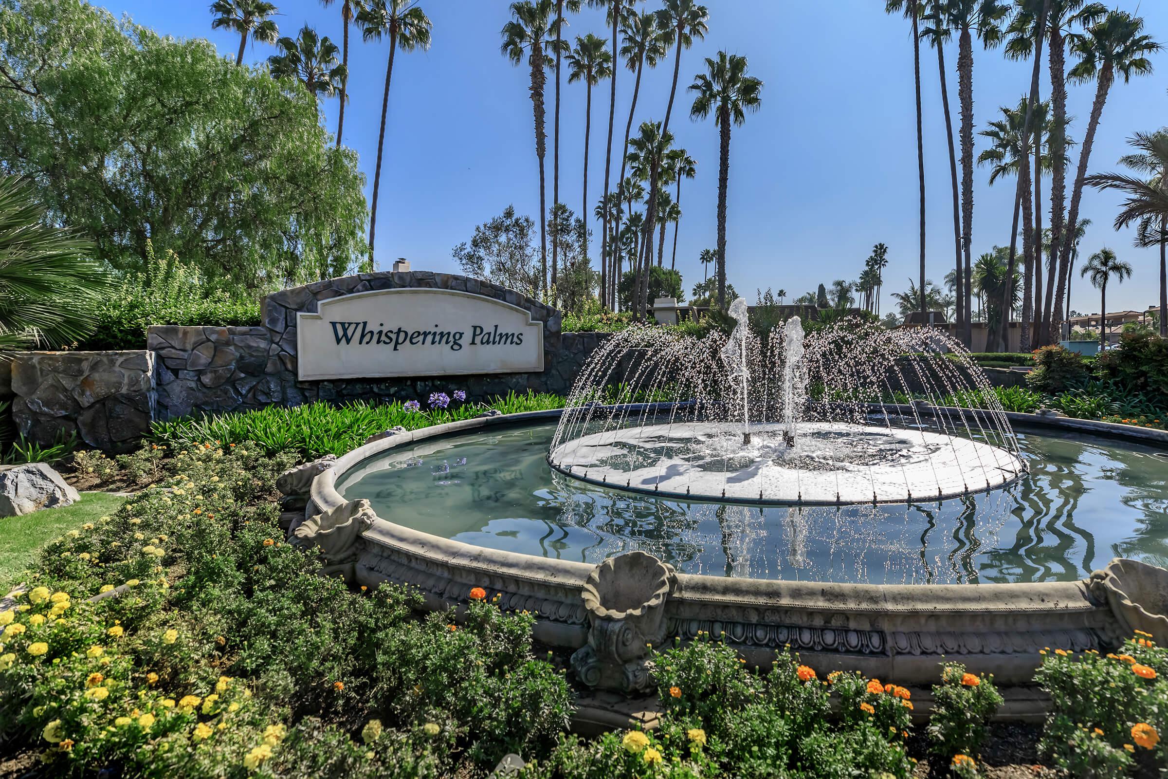
[[[1036,680],[1051,712],[1040,749],[1072,777],[1154,775],[1168,765],[1168,651],[1136,633],[1117,652],[1043,651]]]

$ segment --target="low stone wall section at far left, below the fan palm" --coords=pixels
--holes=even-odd
[[[88,446],[128,451],[150,432],[151,352],[20,352],[11,371],[13,422],[42,446],[76,433]]]

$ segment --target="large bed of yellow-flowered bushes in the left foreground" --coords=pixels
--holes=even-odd
[[[538,757],[566,725],[531,615],[417,620],[405,590],[350,591],[280,540],[269,496],[294,455],[172,454],[165,488],[49,543],[0,617],[7,746],[44,749],[51,775],[438,777]]]

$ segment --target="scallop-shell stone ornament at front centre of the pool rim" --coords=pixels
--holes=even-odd
[[[589,687],[644,693],[653,687],[648,656],[666,637],[666,600],[677,585],[673,566],[644,551],[610,557],[589,573],[583,599],[591,630],[572,654]]]

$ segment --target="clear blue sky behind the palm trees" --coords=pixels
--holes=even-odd
[[[324,8],[318,0],[276,0],[281,34],[296,35],[305,23],[340,44],[340,4]],[[208,37],[225,56],[235,56],[238,36],[210,28],[209,2],[194,0],[110,0],[114,15],[176,37]],[[520,213],[538,210],[538,168],[533,144],[531,103],[526,68],[500,55],[499,30],[508,20],[505,0],[424,0],[433,21],[429,51],[398,54],[390,92],[385,161],[377,223],[378,265],[406,257],[415,269],[457,271],[451,249],[470,239],[475,224],[498,215],[508,203]],[[654,7],[652,0],[641,4]],[[691,98],[684,86],[703,69],[702,58],[719,49],[745,55],[750,72],[765,82],[763,106],[735,127],[730,148],[730,199],[726,262],[729,280],[753,301],[755,290],[785,288],[798,295],[833,279],[855,279],[876,242],[890,248],[885,270],[888,293],[903,290],[917,274],[917,160],[912,48],[908,23],[883,13],[883,0],[709,0],[710,30],[704,41],[682,53],[677,105],[670,130],[676,142],[697,160],[697,178],[682,185],[683,211],[677,267],[687,292],[702,278],[698,252],[716,241],[718,139],[711,120],[688,117]],[[1168,4],[1118,0],[1139,11],[1146,32],[1168,42]],[[609,37],[599,12],[571,16],[565,35],[592,32]],[[611,30],[609,30],[611,32]],[[345,142],[361,155],[373,187],[381,95],[388,43],[362,43],[350,30],[349,106]],[[272,54],[249,43],[245,61],[259,63]],[[952,200],[945,123],[936,54],[922,53],[925,110],[929,277],[941,281],[953,263]],[[1045,56],[1043,57],[1045,60]],[[661,119],[669,95],[672,54],[667,64],[647,71],[641,83],[637,125]],[[954,128],[957,112],[955,46],[946,49]],[[1073,62],[1073,60],[1071,60]],[[1118,82],[1104,110],[1091,157],[1091,172],[1115,169],[1133,131],[1161,126],[1168,107],[1168,51],[1153,57],[1155,72],[1129,84]],[[996,119],[997,106],[1016,105],[1028,90],[1030,64],[1009,62],[1001,50],[974,51],[974,119],[978,128]],[[564,72],[561,107],[561,200],[579,210],[584,141],[584,86],[568,84]],[[632,74],[618,74],[613,140],[619,146],[632,97]],[[1043,93],[1049,77],[1043,72]],[[1070,86],[1071,134],[1082,138],[1094,84]],[[603,188],[609,88],[593,91],[589,210]],[[551,202],[551,112],[549,78],[548,202]],[[336,125],[335,99],[324,105],[324,121]],[[679,112],[680,111],[680,112]],[[978,151],[983,147],[976,140]],[[614,152],[618,154],[619,152]],[[1078,152],[1072,161],[1077,164]],[[1073,167],[1073,165],[1072,165]],[[617,171],[613,172],[616,178]],[[1009,242],[1014,180],[988,186],[989,171],[975,172],[973,253]],[[1068,176],[1071,178],[1070,175]],[[1044,180],[1044,201],[1050,182]],[[1070,189],[1070,187],[1068,187]],[[1113,248],[1132,263],[1134,277],[1108,288],[1108,308],[1143,308],[1155,304],[1159,251],[1132,248],[1129,231],[1111,224],[1119,196],[1087,190],[1082,216],[1092,225],[1082,244],[1086,257]],[[1044,223],[1049,217],[1044,216]],[[593,242],[599,243],[599,224]],[[672,241],[672,235],[669,236]],[[667,250],[669,243],[667,242]],[[593,251],[593,257],[596,252]],[[668,262],[668,255],[667,260]],[[1077,277],[1077,274],[1076,274]],[[1099,297],[1078,277],[1071,306],[1096,312]]]

